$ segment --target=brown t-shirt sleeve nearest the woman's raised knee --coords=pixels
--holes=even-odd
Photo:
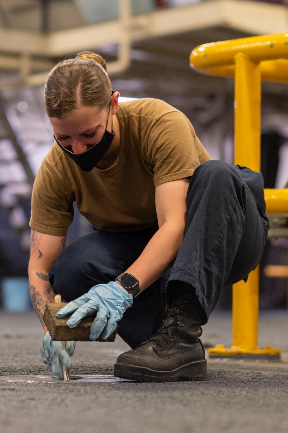
[[[199,161],[199,150],[204,155],[201,159],[210,159],[193,126],[178,111],[165,114],[152,126],[145,149],[147,164],[154,173],[155,187],[192,176],[195,168],[203,162]]]

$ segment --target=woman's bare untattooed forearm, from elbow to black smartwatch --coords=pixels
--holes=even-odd
[[[158,280],[173,264],[183,238],[184,227],[167,222],[150,239],[139,258],[127,269],[139,280],[141,291]]]

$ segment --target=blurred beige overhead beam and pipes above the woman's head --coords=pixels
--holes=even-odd
[[[212,26],[230,27],[248,34],[288,32],[285,6],[270,3],[212,0],[133,15],[131,0],[119,0],[118,19],[49,33],[48,0],[41,1],[42,32],[8,26],[0,29],[0,69],[20,72],[14,80],[1,80],[1,87],[42,84],[57,58],[108,44],[118,46],[117,60],[108,62],[108,72],[114,74],[129,66],[130,48],[139,40]]]

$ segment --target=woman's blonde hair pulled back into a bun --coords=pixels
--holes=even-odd
[[[79,106],[109,108],[111,82],[106,62],[89,51],[57,63],[46,78],[44,107],[49,117],[62,119]]]

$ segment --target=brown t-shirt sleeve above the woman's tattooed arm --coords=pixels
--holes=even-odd
[[[74,216],[74,200],[61,175],[44,160],[33,185],[30,227],[47,235],[66,236]]]

